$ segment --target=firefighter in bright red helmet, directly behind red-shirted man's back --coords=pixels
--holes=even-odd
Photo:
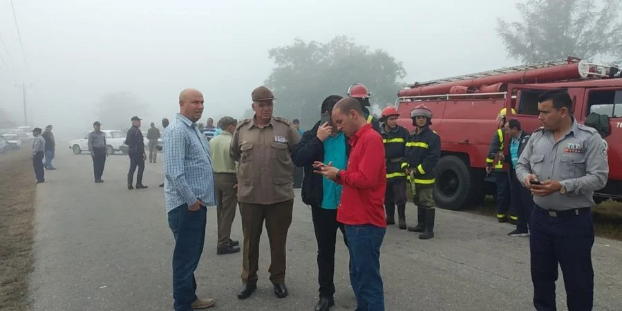
[[[397,125],[399,113],[393,107],[386,107],[380,115],[380,135],[386,154],[386,193],[384,209],[386,224],[395,224],[395,206],[399,229],[406,229],[406,173],[405,158],[408,130]]]

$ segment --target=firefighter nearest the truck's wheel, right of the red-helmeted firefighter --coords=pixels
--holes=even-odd
[[[435,205],[433,199],[434,167],[440,158],[440,137],[430,129],[432,111],[420,104],[411,111],[415,131],[406,142],[406,174],[415,185],[413,200],[417,205],[417,225],[408,227],[410,232],[422,232],[419,238],[434,237]]]

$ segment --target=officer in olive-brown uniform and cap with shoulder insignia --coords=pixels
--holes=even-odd
[[[257,288],[259,238],[265,220],[270,239],[270,281],[274,294],[288,296],[285,287],[285,243],[294,207],[294,163],[290,153],[300,134],[281,117],[272,116],[274,95],[259,86],[251,94],[251,119],[237,126],[231,141],[231,156],[239,162],[238,202],[244,233],[243,286],[238,299],[248,298]]]

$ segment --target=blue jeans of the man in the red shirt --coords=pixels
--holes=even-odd
[[[384,311],[380,246],[386,228],[374,225],[345,227],[350,251],[350,284],[357,297],[356,310]]]

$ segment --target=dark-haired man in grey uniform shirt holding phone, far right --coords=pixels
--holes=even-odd
[[[568,310],[592,310],[594,191],[607,183],[607,146],[596,129],[578,124],[565,91],[540,95],[537,129],[520,154],[518,180],[534,194],[529,250],[536,310],[557,310],[559,264]]]

